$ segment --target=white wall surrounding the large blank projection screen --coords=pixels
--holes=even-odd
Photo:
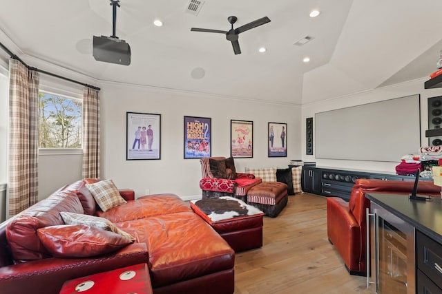
[[[382,87],[374,90],[360,92],[356,94],[341,96],[338,98],[329,98],[326,101],[318,103],[309,103],[302,105],[302,159],[305,161],[316,161],[316,165],[321,167],[341,167],[347,169],[363,169],[369,171],[385,171],[395,173],[395,167],[398,162],[375,162],[375,161],[361,161],[361,160],[327,160],[317,159],[315,156],[305,155],[305,118],[313,117],[316,112],[325,112],[332,109],[340,109],[354,105],[361,105],[372,103],[376,101],[383,101],[392,98],[399,98],[413,94],[421,94],[421,145],[428,145],[428,138],[425,138],[425,130],[427,129],[427,98],[442,95],[442,89],[425,90],[423,84],[428,78],[421,78],[407,83],[400,83],[388,87]],[[395,109],[392,109],[394,112]],[[396,110],[397,111],[397,110]],[[376,119],[375,117],[373,119]],[[314,122],[315,123],[315,122]],[[369,124],[369,121],[356,121],[348,123]],[[343,130],[345,132],[345,130]],[[364,134],[354,134],[354,140],[363,140]],[[336,138],[339,140],[339,138]],[[314,140],[315,144],[315,140]],[[383,144],[379,142],[379,144]],[[394,146],[385,146],[387,148],[394,148]],[[416,150],[417,152],[418,150]],[[405,155],[405,154],[404,154]]]

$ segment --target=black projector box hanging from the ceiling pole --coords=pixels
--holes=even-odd
[[[130,65],[131,46],[111,36],[94,36],[93,56],[97,61]]]

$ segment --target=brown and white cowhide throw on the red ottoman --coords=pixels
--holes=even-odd
[[[262,211],[256,207],[229,196],[192,200],[192,202],[204,212],[212,222],[229,220],[230,218],[237,218],[239,216],[253,216],[262,213]]]

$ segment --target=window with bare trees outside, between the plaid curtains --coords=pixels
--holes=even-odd
[[[39,92],[39,148],[81,148],[82,103]]]

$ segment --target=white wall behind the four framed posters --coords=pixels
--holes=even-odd
[[[101,86],[102,178],[117,187],[135,189],[137,196],[176,193],[200,197],[198,159],[183,159],[184,116],[211,118],[212,156],[230,156],[230,120],[253,121],[253,158],[236,158],[244,167],[285,167],[301,156],[300,107],[242,101],[213,95],[159,90],[136,85]],[[126,160],[126,112],[161,114],[161,160]],[[267,123],[287,123],[287,158],[267,157]]]

